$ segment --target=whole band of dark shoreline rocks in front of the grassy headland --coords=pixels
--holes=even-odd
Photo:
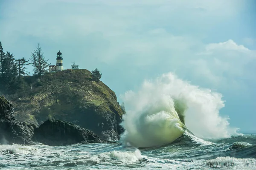
[[[12,104],[0,96],[0,144],[35,144],[52,146],[107,142],[91,130],[62,120],[47,120],[39,127],[13,117]]]

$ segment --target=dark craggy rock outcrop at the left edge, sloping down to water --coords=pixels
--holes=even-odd
[[[26,125],[13,117],[12,104],[0,96],[0,143],[35,144],[33,125]]]

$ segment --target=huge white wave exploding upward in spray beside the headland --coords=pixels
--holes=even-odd
[[[134,147],[169,144],[186,128],[202,138],[227,138],[237,130],[229,127],[228,117],[219,115],[224,107],[221,94],[172,73],[147,80],[137,93],[128,91],[121,97],[126,107],[121,140]]]

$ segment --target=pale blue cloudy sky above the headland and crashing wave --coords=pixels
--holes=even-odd
[[[222,115],[256,132],[255,0],[0,0],[0,41],[29,59],[102,72],[120,95],[173,72],[223,94]],[[29,71],[32,68],[29,67]]]

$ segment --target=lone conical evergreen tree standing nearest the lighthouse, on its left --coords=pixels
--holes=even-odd
[[[36,50],[33,50],[31,55],[31,64],[33,65],[34,69],[34,75],[38,75],[41,77],[41,75],[48,72],[48,67],[51,64],[48,64],[47,61],[49,59],[45,59],[44,53],[42,52],[42,48],[40,47],[40,44],[38,43],[38,46]]]

